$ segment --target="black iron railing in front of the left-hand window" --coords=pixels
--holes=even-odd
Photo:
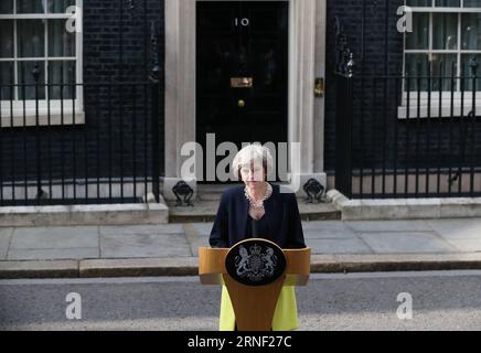
[[[38,95],[40,84],[0,85],[0,93],[29,86]],[[2,101],[0,205],[158,197],[159,81],[42,85],[54,87],[71,90],[73,99]],[[79,90],[88,104],[75,98]]]

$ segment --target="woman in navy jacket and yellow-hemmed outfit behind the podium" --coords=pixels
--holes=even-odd
[[[233,172],[245,185],[234,186],[221,197],[210,236],[212,247],[229,248],[247,238],[266,238],[284,249],[304,248],[302,224],[295,193],[281,192],[266,181],[272,168],[269,149],[250,145],[234,158]],[[295,288],[285,286],[274,313],[272,330],[299,327]],[[234,309],[225,286],[222,289],[220,330],[235,330]]]

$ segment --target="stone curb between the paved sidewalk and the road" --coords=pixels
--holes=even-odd
[[[313,255],[312,274],[481,269],[481,253]],[[197,276],[197,258],[0,261],[0,279]]]

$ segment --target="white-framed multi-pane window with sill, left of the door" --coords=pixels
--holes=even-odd
[[[26,125],[35,125],[36,94],[44,124],[47,115],[52,125],[60,124],[61,110],[64,124],[73,122],[74,110],[75,122],[83,122],[82,89],[72,85],[82,83],[82,35],[75,28],[67,30],[71,6],[81,9],[82,0],[0,1],[2,127],[12,120],[23,126],[24,116]],[[40,71],[38,88],[35,67]]]

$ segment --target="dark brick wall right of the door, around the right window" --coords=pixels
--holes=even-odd
[[[334,17],[339,17],[344,25],[356,63],[353,167],[377,170],[394,167],[457,168],[470,163],[471,148],[473,163],[481,163],[481,139],[477,138],[481,136],[481,127],[477,119],[473,124],[456,116],[430,121],[413,116],[408,121],[397,119],[400,81],[381,77],[403,74],[404,35],[396,28],[400,18],[396,10],[403,3],[402,0],[328,0],[324,157],[330,173],[333,173],[335,161],[335,105],[339,99],[333,76]],[[466,107],[466,114],[469,110]]]

